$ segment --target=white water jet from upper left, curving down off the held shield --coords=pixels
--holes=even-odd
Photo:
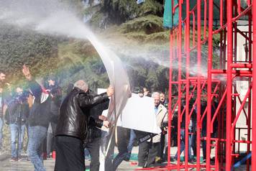
[[[104,47],[97,37],[72,12],[72,6],[57,0],[1,0],[0,21],[23,29],[32,29],[42,34],[63,35],[91,42],[103,61],[109,80],[114,86],[109,119],[116,120],[129,97],[129,79],[121,60],[114,52]]]

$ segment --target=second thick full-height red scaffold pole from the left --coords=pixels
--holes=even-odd
[[[196,170],[200,170],[201,144],[201,0],[197,0],[197,106],[196,106]]]

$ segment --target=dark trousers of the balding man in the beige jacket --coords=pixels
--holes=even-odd
[[[150,167],[155,163],[155,157],[160,150],[160,142],[142,142],[139,146],[138,154],[138,166],[140,167]]]

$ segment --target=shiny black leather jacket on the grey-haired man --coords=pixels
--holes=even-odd
[[[60,105],[56,136],[76,137],[82,141],[86,139],[90,109],[93,105],[106,101],[106,99],[108,99],[106,93],[91,96],[79,88],[74,88]]]

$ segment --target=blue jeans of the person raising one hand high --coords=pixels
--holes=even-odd
[[[29,144],[27,145],[27,154],[29,156],[29,160],[35,167],[35,171],[45,171],[40,145],[46,136],[47,129],[44,126],[29,126]]]

